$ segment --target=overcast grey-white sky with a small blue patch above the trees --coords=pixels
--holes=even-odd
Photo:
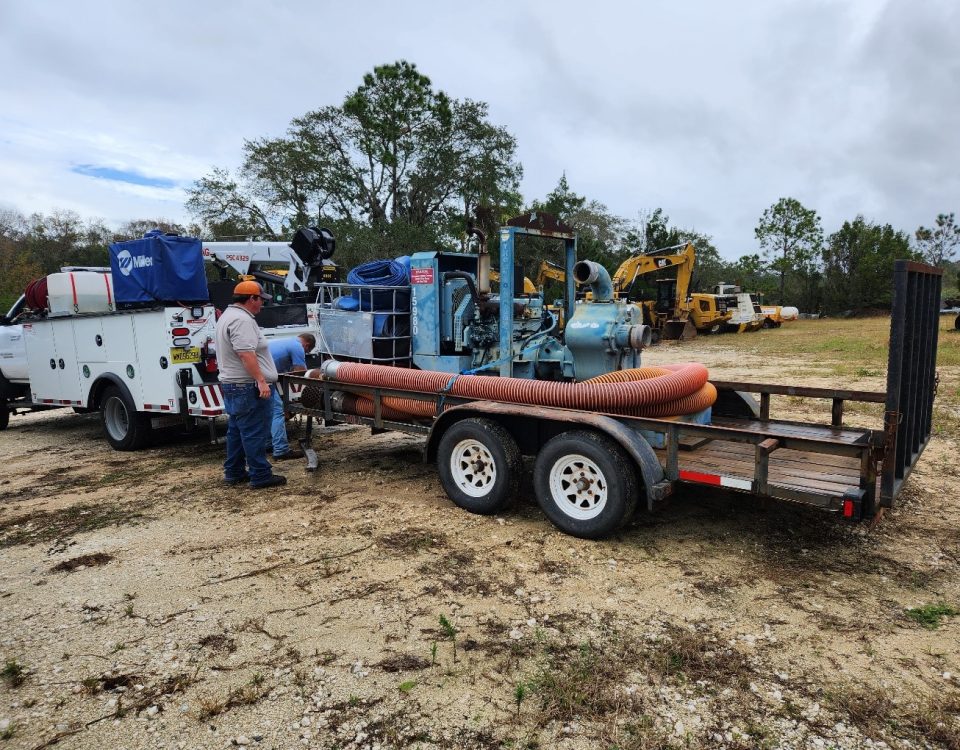
[[[0,208],[184,221],[245,138],[406,59],[485,101],[524,197],[566,173],[755,252],[780,197],[829,233],[960,212],[956,0],[0,0]]]

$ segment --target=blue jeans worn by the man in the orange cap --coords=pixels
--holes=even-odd
[[[228,481],[240,479],[249,469],[250,484],[259,484],[273,476],[263,450],[270,434],[270,405],[260,398],[256,383],[221,383],[223,406],[227,420],[227,460],[223,476]]]

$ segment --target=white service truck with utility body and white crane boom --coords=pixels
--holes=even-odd
[[[319,242],[316,235],[312,241]],[[280,338],[315,332],[316,305],[305,300],[332,242],[323,238],[325,249],[306,262],[283,243],[203,243],[202,254],[291,294],[293,319],[264,329],[267,338]],[[269,270],[276,264],[285,273]],[[118,309],[109,268],[65,268],[46,285],[42,304],[31,307],[24,296],[0,316],[0,430],[11,414],[72,407],[99,411],[117,450],[136,450],[152,428],[176,422],[207,421],[213,435],[212,420],[223,414],[214,304]]]

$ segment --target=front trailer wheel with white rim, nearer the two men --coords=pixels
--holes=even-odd
[[[520,449],[496,422],[464,419],[440,438],[437,469],[454,503],[471,513],[491,515],[516,497],[522,471]]]

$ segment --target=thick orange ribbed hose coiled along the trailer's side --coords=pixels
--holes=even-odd
[[[690,414],[712,405],[716,389],[707,382],[707,376],[707,368],[693,362],[665,368],[621,370],[582,383],[450,375],[353,362],[329,361],[323,366],[325,379],[344,384],[637,417]],[[370,404],[369,408],[359,404],[364,400]],[[369,411],[365,416],[372,415],[373,404],[369,399],[349,401],[351,406]],[[432,417],[436,413],[432,402],[416,399],[386,397],[382,406],[392,414],[408,417]]]

